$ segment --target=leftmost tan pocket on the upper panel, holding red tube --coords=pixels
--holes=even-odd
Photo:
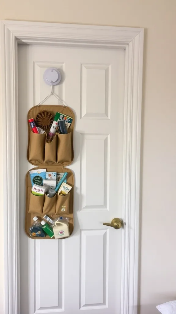
[[[46,133],[37,134],[31,131],[29,143],[29,161],[37,160],[39,163],[44,162]]]

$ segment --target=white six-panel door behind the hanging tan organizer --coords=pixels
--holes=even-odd
[[[54,86],[75,112],[74,232],[35,241],[24,232],[27,112],[50,93],[46,68],[59,68]],[[119,314],[125,50],[18,45],[21,314]],[[44,104],[58,104],[51,96]]]

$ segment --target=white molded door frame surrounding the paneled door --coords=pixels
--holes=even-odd
[[[122,231],[121,314],[135,314],[138,301],[143,29],[23,21],[1,21],[0,35],[5,313],[20,313],[17,71],[17,43],[20,42],[125,49],[122,218],[126,226]]]

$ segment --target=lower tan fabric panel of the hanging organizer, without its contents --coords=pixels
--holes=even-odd
[[[42,169],[43,167],[39,167]],[[36,169],[36,168],[33,168]],[[31,169],[31,170],[33,170]],[[46,171],[68,172],[67,183],[72,186],[70,192],[65,196],[60,196],[56,193],[53,198],[48,198],[46,194],[44,196],[35,196],[31,193],[32,184],[29,171],[26,175],[26,217],[25,217],[25,232],[28,237],[32,239],[51,239],[48,235],[44,238],[32,237],[29,233],[29,227],[34,222],[33,218],[37,216],[41,221],[44,215],[48,215],[51,219],[55,219],[62,215],[63,217],[69,217],[69,230],[70,235],[73,232],[73,195],[74,195],[74,175],[70,169],[62,167],[48,166]],[[62,238],[64,239],[64,238]],[[52,238],[53,240],[53,238]],[[55,240],[55,239],[54,239]]]

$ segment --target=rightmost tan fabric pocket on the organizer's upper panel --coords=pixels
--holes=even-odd
[[[57,148],[57,162],[71,162],[71,133],[59,134],[58,136],[58,148]]]

